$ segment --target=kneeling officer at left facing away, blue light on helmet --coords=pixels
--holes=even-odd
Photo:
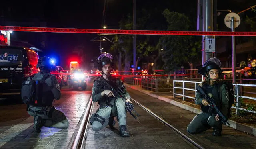
[[[41,57],[37,68],[40,72],[34,75],[32,80],[41,81],[42,88],[38,101],[28,104],[28,114],[34,116],[34,128],[41,132],[41,127],[68,128],[69,122],[64,113],[52,106],[54,99],[60,99],[60,85],[54,75],[50,74],[54,65],[49,57]],[[28,78],[29,79],[29,78]],[[38,90],[37,90],[38,91]],[[39,100],[40,99],[40,100]]]

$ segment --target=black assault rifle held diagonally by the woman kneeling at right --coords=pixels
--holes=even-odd
[[[208,95],[205,94],[204,90],[202,90],[202,87],[201,86],[198,86],[198,91],[200,94],[202,94],[204,96],[204,98],[206,99],[206,101],[210,104],[210,108],[212,110],[215,110],[216,113],[219,115],[219,118],[220,118],[220,122],[224,125],[230,125],[228,123],[228,119],[222,114],[222,112],[220,112],[220,110],[217,108],[215,102],[214,102],[214,99],[212,98],[212,94],[209,93]]]

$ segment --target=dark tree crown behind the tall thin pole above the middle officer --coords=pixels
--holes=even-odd
[[[161,14],[162,10],[157,8],[142,8],[137,11],[137,25],[136,29],[142,30],[163,30],[166,29],[166,21]],[[119,22],[120,29],[132,29],[132,16],[122,18]],[[156,47],[160,36],[155,35],[137,35],[136,36],[136,64],[140,61],[154,62],[156,67],[159,57],[159,48]],[[114,44],[111,50],[114,53],[122,52],[122,57],[125,62],[125,70],[130,67],[133,58],[133,38],[132,35],[116,35],[114,37]],[[161,48],[160,48],[161,49]],[[154,69],[154,68],[153,68]]]

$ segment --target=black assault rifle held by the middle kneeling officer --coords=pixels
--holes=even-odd
[[[123,94],[125,93],[125,89],[124,88],[120,88],[118,87],[117,90],[115,88],[113,88],[112,86],[110,86],[108,84],[108,82],[103,79],[104,83],[106,84],[106,86],[108,86],[108,88],[111,88],[111,91],[113,92],[113,94],[116,97],[120,97],[120,98],[124,98]],[[124,98],[125,99],[125,98]],[[126,102],[125,103],[125,110],[128,111],[135,119],[137,119],[138,116],[140,116],[135,110],[134,110],[134,105],[131,102]],[[137,115],[135,115],[134,113]]]

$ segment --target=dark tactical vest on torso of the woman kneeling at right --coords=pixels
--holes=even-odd
[[[221,105],[221,99],[220,99],[220,93],[219,93],[219,86],[218,83],[215,83],[213,86],[210,86],[208,83],[204,83],[202,85],[202,88],[206,94],[212,93],[214,96],[214,102],[217,106],[218,109],[220,109]],[[200,98],[204,98],[203,96],[200,95]],[[209,115],[216,114],[215,111],[212,111],[212,109],[209,106],[204,106],[203,104],[201,105],[201,110],[205,113],[208,113]]]

